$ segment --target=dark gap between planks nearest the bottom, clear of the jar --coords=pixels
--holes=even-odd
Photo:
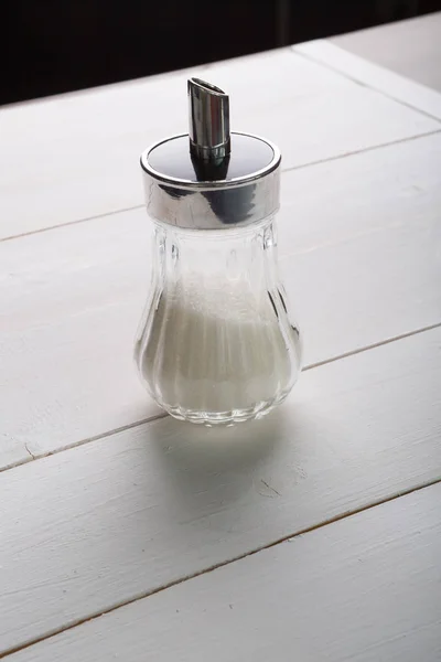
[[[161,418],[161,416],[159,416],[159,418]],[[378,505],[383,505],[385,503],[390,503],[392,501],[397,501],[401,496],[407,496],[409,494],[413,494],[415,492],[419,492],[420,490],[431,488],[438,483],[441,483],[441,478],[428,481],[416,488],[410,488],[408,490],[397,492],[396,494],[391,494],[390,496],[387,496],[386,499],[379,499],[377,501],[373,501],[372,503],[363,505],[357,509],[354,509],[353,511],[346,511],[344,513],[341,513],[340,515],[335,515],[334,517],[324,520],[323,522],[321,522],[319,524],[313,524],[312,526],[306,526],[305,528],[301,528],[297,533],[284,535],[281,538],[272,541],[271,543],[261,545],[261,546],[257,547],[256,549],[252,549],[251,552],[246,552],[246,553],[235,556],[228,560],[223,560],[220,563],[217,563],[213,566],[209,566],[209,567],[198,570],[196,573],[185,575],[184,577],[181,577],[180,579],[174,579],[173,581],[164,584],[163,586],[160,586],[152,590],[143,591],[143,592],[139,594],[138,596],[132,597],[129,600],[121,600],[120,602],[116,602],[112,607],[109,607],[108,609],[105,609],[104,611],[97,611],[95,613],[92,613],[87,618],[76,619],[76,620],[72,621],[71,623],[67,623],[64,627],[52,630],[51,632],[49,632],[47,634],[45,634],[43,637],[37,637],[31,641],[28,641],[26,643],[24,643],[22,645],[18,645],[18,647],[11,648],[9,650],[6,650],[2,653],[0,653],[0,660],[7,658],[8,655],[13,655],[14,653],[26,650],[26,649],[29,649],[37,643],[41,643],[43,641],[47,641],[49,639],[53,639],[54,637],[57,637],[58,634],[62,634],[63,632],[67,632],[68,630],[74,630],[75,628],[78,628],[79,626],[83,626],[84,623],[94,621],[97,618],[100,618],[101,616],[107,616],[108,613],[111,613],[111,612],[116,611],[117,609],[120,609],[121,607],[127,607],[128,605],[132,605],[133,602],[139,602],[140,600],[143,600],[146,598],[154,596],[155,594],[162,592],[163,590],[173,588],[174,586],[178,586],[179,584],[184,584],[185,581],[190,581],[191,579],[195,579],[196,577],[201,577],[202,575],[207,575],[208,573],[213,573],[214,570],[217,570],[219,568],[223,568],[225,566],[234,564],[237,560],[243,560],[244,558],[247,558],[249,556],[255,556],[255,554],[259,554],[259,552],[263,552],[265,549],[270,549],[271,547],[276,547],[277,545],[280,545],[288,541],[289,542],[294,541],[297,537],[301,537],[302,535],[311,533],[312,531],[316,531],[319,528],[324,528],[325,526],[330,526],[331,524],[334,524],[335,522],[340,522],[341,520],[347,520],[348,517],[358,515],[359,513],[363,513],[365,511],[377,508]]]

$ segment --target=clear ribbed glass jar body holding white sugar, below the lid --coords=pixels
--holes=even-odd
[[[228,424],[281,403],[298,378],[301,343],[272,218],[198,232],[157,221],[135,356],[150,395],[176,418]]]

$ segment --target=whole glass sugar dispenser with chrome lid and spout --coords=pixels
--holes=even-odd
[[[229,131],[229,99],[189,81],[190,131],[141,156],[153,222],[152,282],[135,357],[172,416],[260,417],[294,385],[298,328],[278,276],[279,150]]]

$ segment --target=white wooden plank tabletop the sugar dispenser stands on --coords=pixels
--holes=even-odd
[[[1,109],[0,656],[439,662],[441,94],[329,41],[195,73],[284,154],[305,371],[226,429],[138,383],[190,72]]]

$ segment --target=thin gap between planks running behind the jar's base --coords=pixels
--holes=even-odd
[[[416,329],[415,331],[408,331],[406,333],[400,333],[399,335],[394,335],[394,338],[387,338],[386,340],[380,340],[378,342],[365,345],[364,348],[358,348],[356,350],[351,350],[348,352],[344,352],[343,354],[338,354],[337,356],[331,356],[331,359],[325,359],[324,361],[319,361],[316,363],[310,363],[302,369],[302,372],[306,372],[309,370],[314,370],[315,367],[320,367],[322,365],[326,365],[327,363],[335,363],[335,361],[342,361],[344,359],[348,359],[349,356],[355,356],[356,354],[363,354],[364,352],[368,352],[369,350],[375,350],[376,348],[380,348],[383,345],[390,344],[392,342],[398,342],[404,340],[405,338],[410,338],[411,335],[418,335],[420,333],[426,333],[426,331],[432,331],[433,329],[438,329],[441,327],[441,322],[437,322],[435,324],[430,324],[429,327],[422,327],[421,329]],[[104,439],[105,437],[111,437],[112,435],[118,435],[119,433],[123,433],[125,430],[130,430],[132,428],[139,427],[141,425],[153,423],[154,420],[159,420],[161,418],[166,418],[169,414],[166,412],[162,412],[160,414],[155,414],[154,416],[149,416],[148,418],[142,418],[141,420],[136,420],[133,423],[129,423],[118,428],[114,428],[111,430],[107,430],[105,433],[100,433],[99,435],[95,435],[93,437],[86,437],[85,439],[79,439],[78,441],[74,441],[68,446],[63,446],[62,448],[56,448],[49,452],[44,452],[42,455],[32,453],[28,445],[25,444],[25,449],[29,452],[29,458],[23,460],[19,460],[12,465],[8,465],[0,469],[0,473],[3,471],[9,471],[10,469],[17,469],[18,467],[22,467],[23,465],[28,465],[29,462],[42,460],[53,455],[58,455],[60,452],[65,452],[66,450],[71,450],[73,448],[78,448],[79,446],[86,446],[86,444],[92,444],[93,441],[98,441],[99,439]],[[1,658],[1,655],[0,655]]]

